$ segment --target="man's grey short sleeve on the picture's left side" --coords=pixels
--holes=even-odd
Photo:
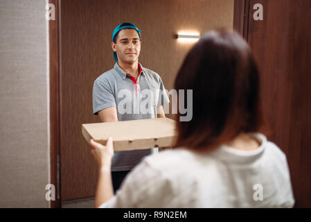
[[[100,110],[116,107],[116,97],[106,78],[96,79],[93,86],[93,113],[98,115]]]

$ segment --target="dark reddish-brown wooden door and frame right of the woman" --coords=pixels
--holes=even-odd
[[[263,21],[253,19],[255,3]],[[311,1],[250,0],[248,40],[261,69],[268,139],[287,155],[296,207],[311,207],[310,21]]]

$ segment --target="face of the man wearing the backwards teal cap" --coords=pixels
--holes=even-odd
[[[122,29],[118,33],[116,43],[112,42],[112,50],[116,52],[119,62],[136,62],[139,60],[139,53],[141,53],[139,33],[134,29]]]

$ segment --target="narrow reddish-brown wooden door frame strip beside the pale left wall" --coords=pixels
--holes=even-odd
[[[57,155],[60,153],[60,90],[58,70],[58,1],[49,0],[55,6],[55,20],[48,22],[48,35],[50,46],[50,160],[51,160],[51,184],[55,185],[55,200],[51,201],[51,207],[61,207],[60,180],[57,179]]]

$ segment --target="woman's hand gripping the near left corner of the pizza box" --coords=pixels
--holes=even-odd
[[[112,143],[112,137],[107,139],[106,146],[95,142],[93,139],[89,141],[93,149],[91,154],[94,155],[99,167],[110,167],[112,163],[112,157],[114,156],[114,144]]]

